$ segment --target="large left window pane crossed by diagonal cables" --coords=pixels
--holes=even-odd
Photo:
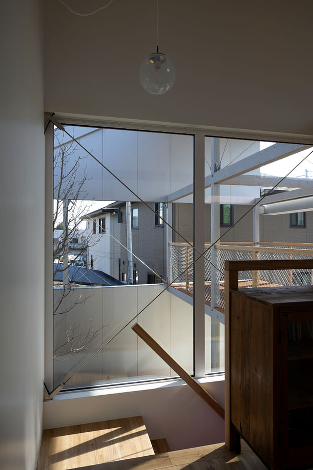
[[[65,388],[75,388],[175,376],[131,329],[135,321],[192,374],[192,299],[186,292],[182,297],[182,290],[175,295],[167,289],[169,282],[179,284],[179,275],[173,277],[168,258],[170,246],[173,254],[176,246],[166,223],[173,224],[170,195],[183,194],[193,180],[193,137],[68,130],[131,190],[56,130],[54,385],[66,381]],[[186,207],[192,201],[188,197]],[[192,209],[190,215],[187,223],[178,222],[187,246],[192,244]],[[186,274],[186,260],[172,260],[184,271],[191,292],[192,267]]]

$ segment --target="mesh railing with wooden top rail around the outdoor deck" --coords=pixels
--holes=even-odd
[[[205,246],[205,249],[209,245]],[[216,267],[224,272],[224,263],[245,260],[313,259],[313,244],[259,243],[258,246],[217,245]],[[193,294],[193,248],[187,243],[170,243],[170,274],[173,286]],[[197,255],[196,255],[197,257]],[[211,304],[211,253],[205,253],[205,302]],[[185,272],[184,272],[185,271]],[[182,274],[181,274],[182,273]],[[296,286],[312,284],[312,270],[239,271],[239,287]],[[224,277],[217,272],[214,307],[224,309]]]

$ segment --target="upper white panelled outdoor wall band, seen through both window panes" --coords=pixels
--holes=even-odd
[[[166,201],[168,195],[193,182],[193,137],[156,132],[98,129],[86,133],[88,128],[67,126],[67,130],[89,150],[113,175],[117,176],[135,195],[144,201]],[[59,131],[58,131],[59,132]],[[60,132],[59,132],[60,134]],[[65,136],[65,141],[69,139]],[[87,180],[81,190],[81,199],[100,201],[136,201],[137,198],[120,181],[107,172],[99,162],[74,144],[75,151],[67,168],[78,157],[84,157],[79,165],[76,180],[86,172]],[[260,149],[259,142],[226,140],[220,142],[222,168],[232,160],[239,161]],[[211,139],[206,137],[205,175],[210,174]],[[259,174],[255,170],[253,174]],[[55,174],[54,186],[59,181]],[[205,201],[211,201],[211,190],[206,189]],[[74,187],[75,196],[75,187]],[[54,197],[56,197],[56,192]],[[221,185],[221,203],[250,204],[258,197],[257,187]],[[184,199],[190,202],[192,195]]]

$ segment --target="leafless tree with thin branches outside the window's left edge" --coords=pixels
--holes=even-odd
[[[69,243],[79,240],[82,217],[90,211],[88,193],[85,183],[89,180],[87,164],[84,160],[87,155],[78,154],[78,146],[74,141],[66,142],[65,135],[59,130],[54,132],[54,160],[53,160],[53,233],[54,229],[62,229],[62,234],[53,240],[53,319],[54,334],[58,328],[66,323],[66,315],[76,306],[85,303],[91,294],[75,292],[75,284],[69,280],[69,268],[75,267],[82,257],[88,257],[88,247],[97,243],[97,237],[87,232],[84,241],[75,243],[76,253],[69,258]],[[86,265],[87,266],[87,265]],[[77,267],[78,273],[79,268]],[[56,288],[58,286],[58,288]],[[74,295],[73,295],[74,294]],[[83,322],[68,326],[63,344],[54,347],[54,357],[64,358],[73,356],[88,348],[103,326],[93,329],[92,318],[87,325]]]

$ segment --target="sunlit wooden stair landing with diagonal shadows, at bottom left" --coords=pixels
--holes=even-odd
[[[154,455],[140,416],[47,429],[37,470],[70,470]]]

